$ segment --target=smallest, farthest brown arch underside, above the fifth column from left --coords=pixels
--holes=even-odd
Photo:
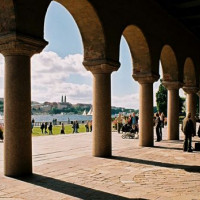
[[[183,77],[185,87],[195,87],[197,85],[195,65],[190,57],[185,60]]]

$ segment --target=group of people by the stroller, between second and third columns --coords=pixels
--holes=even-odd
[[[139,132],[139,125],[138,125],[139,118],[133,112],[132,115],[130,114],[128,117],[123,116],[121,114],[116,117],[114,120],[114,124],[117,126],[117,132],[120,133],[123,126],[131,127],[135,132]]]

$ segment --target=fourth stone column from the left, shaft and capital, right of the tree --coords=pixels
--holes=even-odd
[[[167,135],[168,140],[179,140],[179,88],[180,82],[163,81],[168,90]]]

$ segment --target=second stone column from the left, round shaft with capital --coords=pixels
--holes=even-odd
[[[112,155],[110,76],[118,66],[94,62],[93,66],[88,62],[83,64],[93,74],[93,156],[110,157]]]

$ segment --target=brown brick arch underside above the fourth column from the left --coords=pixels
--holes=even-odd
[[[179,67],[174,50],[169,45],[164,45],[161,50],[160,60],[163,70],[163,81],[178,81]]]

